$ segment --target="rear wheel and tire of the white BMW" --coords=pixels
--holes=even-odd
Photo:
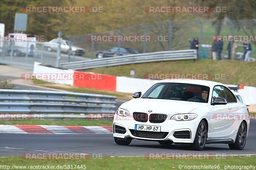
[[[230,149],[233,150],[242,150],[244,149],[245,143],[246,143],[246,136],[247,136],[247,127],[245,122],[243,121],[239,129],[237,131],[236,140],[233,144],[228,144]]]

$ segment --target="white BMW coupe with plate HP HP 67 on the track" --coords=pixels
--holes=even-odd
[[[202,95],[203,94],[203,95]],[[113,136],[116,144],[132,139],[162,145],[228,144],[242,150],[249,131],[249,110],[222,83],[205,80],[161,80],[141,96],[116,111]]]

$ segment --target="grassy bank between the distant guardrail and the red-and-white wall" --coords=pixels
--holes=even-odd
[[[225,84],[245,84],[256,86],[256,63],[235,60],[177,60],[129,64],[84,70],[100,74],[130,77],[130,70],[135,70],[135,77],[145,78],[146,74],[154,73],[203,73],[225,74],[224,80],[212,80]]]

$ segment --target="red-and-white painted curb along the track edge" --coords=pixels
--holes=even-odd
[[[112,126],[0,125],[0,133],[111,134]]]

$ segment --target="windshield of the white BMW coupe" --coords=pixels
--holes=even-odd
[[[156,83],[141,98],[207,103],[210,88],[186,83]]]

